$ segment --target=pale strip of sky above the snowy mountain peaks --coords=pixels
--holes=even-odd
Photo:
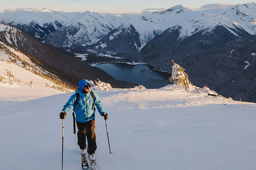
[[[18,8],[43,9],[65,12],[100,12],[100,13],[141,13],[143,11],[166,10],[175,5],[183,5],[193,10],[209,8],[228,8],[235,4],[244,4],[248,0],[0,0],[0,12],[14,11]]]

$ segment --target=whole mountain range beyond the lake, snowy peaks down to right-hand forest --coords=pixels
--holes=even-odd
[[[171,72],[174,60],[187,70],[195,85],[207,85],[235,100],[256,102],[254,2],[237,4],[222,13],[176,5],[137,16],[63,13],[45,8],[0,14],[0,21],[56,48],[118,56],[105,59],[90,54],[84,61],[89,64],[136,61]]]

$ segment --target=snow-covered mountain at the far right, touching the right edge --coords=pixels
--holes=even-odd
[[[256,34],[256,3],[238,4],[221,15],[202,14],[191,17],[176,26],[182,28],[180,37],[185,38],[199,31],[223,26],[238,38]],[[209,30],[210,29],[210,30]],[[246,34],[247,33],[247,34]]]

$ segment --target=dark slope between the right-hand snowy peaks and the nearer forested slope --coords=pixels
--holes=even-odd
[[[171,27],[153,38],[142,48],[142,60],[157,60],[158,58],[170,60],[171,56],[188,56],[207,52],[238,38],[223,26],[208,28],[189,37],[180,37],[181,29],[180,26]],[[240,29],[234,32],[243,37],[250,35]]]

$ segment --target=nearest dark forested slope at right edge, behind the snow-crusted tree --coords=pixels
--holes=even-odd
[[[256,102],[256,35],[234,39],[225,44],[222,38],[226,40],[226,37],[235,37],[223,30],[218,36],[213,36],[213,41],[208,38],[208,45],[203,45],[203,37],[190,36],[189,39],[178,40],[166,50],[162,45],[159,54],[154,52],[156,56],[143,54],[143,61],[157,69],[171,71],[171,60],[174,60],[185,68],[194,85],[207,86],[234,100]]]

